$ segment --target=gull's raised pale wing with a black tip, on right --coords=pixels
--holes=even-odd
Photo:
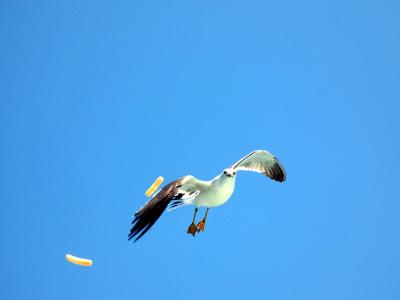
[[[266,150],[255,150],[231,166],[235,170],[255,171],[276,181],[285,181],[286,172],[278,159]]]

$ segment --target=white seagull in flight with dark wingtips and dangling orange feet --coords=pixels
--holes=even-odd
[[[187,233],[195,236],[196,233],[203,232],[209,209],[226,203],[232,196],[237,171],[254,171],[279,182],[286,180],[282,164],[266,150],[255,150],[247,154],[209,181],[197,179],[192,175],[183,176],[165,185],[136,211],[128,240],[135,238],[136,242],[140,239],[165,210],[171,211],[187,205],[195,206],[193,220]],[[207,210],[203,219],[196,225],[199,207],[206,207]]]

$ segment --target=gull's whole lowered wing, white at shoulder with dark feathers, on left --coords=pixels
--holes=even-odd
[[[184,176],[164,186],[134,215],[133,227],[128,239],[140,239],[158,220],[164,210],[175,209],[191,204],[192,200],[200,193],[201,181],[193,176]]]

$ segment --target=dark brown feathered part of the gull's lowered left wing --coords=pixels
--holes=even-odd
[[[163,187],[150,201],[141,207],[132,221],[133,227],[128,235],[128,240],[135,238],[135,242],[140,239],[158,220],[168,204],[172,200],[180,199],[183,194],[179,193],[179,187],[190,176],[181,177]]]

